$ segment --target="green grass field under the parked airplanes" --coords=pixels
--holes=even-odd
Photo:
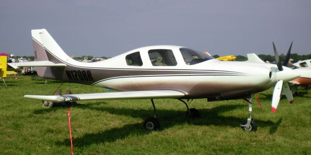
[[[0,154],[69,155],[70,138],[66,107],[42,109],[37,100],[24,94],[52,94],[59,81],[31,80],[20,76],[0,81]],[[63,83],[65,92],[99,93],[103,88]],[[70,108],[76,155],[180,155],[180,154],[276,154],[311,155],[311,90],[299,90],[294,104],[282,97],[271,112],[272,89],[259,93],[253,117],[257,132],[246,132],[240,123],[248,117],[242,100],[206,102],[194,100],[201,118],[185,117],[186,107],[178,100],[156,99],[160,131],[143,128],[153,115],[150,100],[81,101]]]

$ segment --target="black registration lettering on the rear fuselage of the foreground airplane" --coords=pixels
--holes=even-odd
[[[89,70],[66,70],[69,81],[94,81]]]

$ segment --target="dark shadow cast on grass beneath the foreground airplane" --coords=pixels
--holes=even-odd
[[[97,108],[92,106],[84,106],[81,108],[105,111],[117,115],[127,115],[138,118],[148,118],[153,114],[152,110],[143,109],[115,109],[115,108]],[[185,111],[176,110],[157,110],[158,120],[161,124],[161,129],[166,129],[177,124],[194,124],[194,125],[218,125],[218,126],[229,126],[229,127],[240,127],[240,123],[244,120],[233,116],[220,116],[225,111],[233,109],[242,109],[245,106],[242,105],[224,105],[215,107],[212,109],[200,109],[201,118],[199,119],[187,119],[185,117]],[[245,118],[246,119],[246,118]],[[272,121],[255,120],[260,126],[278,126]],[[277,127],[274,127],[271,132],[276,132]],[[99,133],[86,134],[82,137],[75,138],[74,146],[83,147],[86,145],[112,142],[115,140],[122,140],[130,135],[144,135],[149,133],[143,128],[141,123],[127,124],[120,128],[112,128]],[[56,142],[57,145],[70,145],[70,139]]]

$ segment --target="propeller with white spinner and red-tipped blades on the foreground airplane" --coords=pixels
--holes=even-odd
[[[286,58],[285,58],[285,61],[283,62],[283,65],[288,64],[288,61],[289,61],[289,58],[291,55],[292,45],[293,45],[293,42],[292,42],[292,44],[291,44],[291,46],[290,46],[290,48],[286,54]],[[273,49],[274,49],[274,54],[276,57],[276,65],[277,65],[277,68],[279,70],[279,72],[276,71],[276,80],[278,80],[278,81],[276,82],[276,86],[275,86],[274,91],[273,91],[272,103],[271,103],[272,112],[276,112],[277,105],[280,101],[281,93],[286,95],[286,98],[288,99],[288,101],[290,103],[294,102],[293,93],[290,89],[288,81],[299,77],[299,74],[297,74],[293,70],[284,70],[283,66],[281,64],[281,61],[279,60],[279,56],[278,56],[278,53],[276,51],[276,46],[274,43],[273,43]]]

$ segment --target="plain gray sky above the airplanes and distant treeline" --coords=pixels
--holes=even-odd
[[[33,55],[47,29],[70,56],[178,45],[210,54],[311,54],[311,0],[0,0],[0,52]]]

